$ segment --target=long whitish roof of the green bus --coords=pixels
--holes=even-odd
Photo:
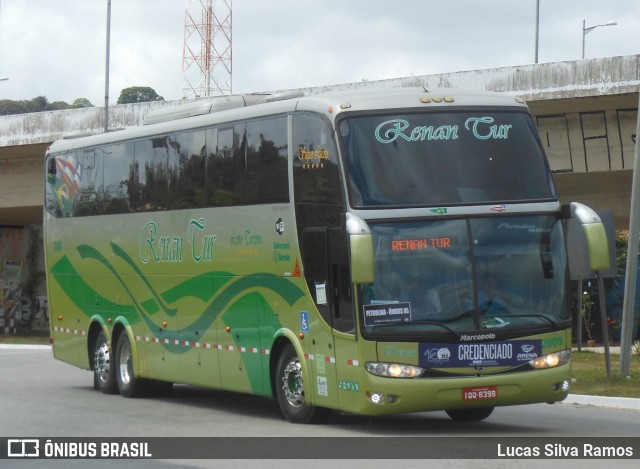
[[[149,113],[145,119],[146,125],[86,137],[63,138],[54,142],[49,151],[69,151],[170,132],[195,130],[242,119],[286,114],[296,110],[319,112],[334,121],[336,116],[343,112],[452,106],[526,108],[523,100],[513,96],[454,88],[430,90],[424,88],[377,88],[331,91],[307,96],[299,93],[221,96]]]

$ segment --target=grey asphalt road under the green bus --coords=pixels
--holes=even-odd
[[[397,454],[399,445],[406,448],[409,460],[402,461],[403,466],[413,467],[412,464],[415,463],[415,467],[425,467],[423,460],[411,460],[414,454],[416,458],[424,458],[425,454],[444,454],[447,458],[468,457],[467,453],[463,455],[465,448],[473,451],[478,441],[486,441],[492,447],[496,442],[504,441],[508,444],[513,438],[518,438],[518,442],[529,446],[565,441],[557,439],[567,437],[577,437],[578,441],[603,438],[605,439],[602,441],[615,441],[620,437],[636,437],[635,441],[640,441],[640,410],[563,403],[498,408],[486,421],[472,424],[453,422],[444,412],[430,412],[376,418],[334,413],[322,425],[294,425],[280,417],[277,403],[272,399],[191,386],[174,386],[171,395],[162,398],[125,399],[119,395],[106,396],[94,391],[92,383],[90,372],[54,360],[50,350],[0,349],[0,437],[53,440],[128,437],[140,441],[145,438],[170,437],[156,440],[156,443],[166,442],[169,446],[175,444],[175,441],[185,441],[176,440],[176,437],[215,437],[214,440],[205,442],[217,445],[220,454],[224,452],[221,450],[231,451],[234,445],[238,445],[238,441],[243,444],[247,441],[251,446],[247,445],[246,453],[236,451],[233,453],[234,458],[253,458],[256,454],[264,455],[271,448],[276,454],[282,454],[282,457],[286,454],[287,458],[298,461],[297,465],[302,467],[322,468],[327,467],[326,461],[322,459],[299,458],[307,457],[304,456],[304,451],[315,454],[314,449],[327,446],[326,442],[330,442],[326,449],[330,457],[348,458],[351,450],[357,454],[358,459],[348,460],[349,467],[389,467],[392,461],[384,459],[375,461],[373,465],[360,465],[364,464],[363,459],[368,454],[362,448],[370,448],[372,458],[377,459],[385,457],[384,453],[381,456],[381,448],[385,445],[390,445],[389,450],[396,449],[391,454]],[[222,440],[222,437],[255,439]],[[278,438],[269,439],[270,437]],[[488,438],[480,440],[476,437]],[[227,441],[230,446],[222,447],[221,444],[226,444]],[[371,441],[374,442],[373,446]],[[434,453],[425,453],[426,447]],[[640,457],[640,446],[637,447],[635,458]],[[216,451],[215,448],[212,451]],[[277,464],[280,467],[282,464],[292,463],[292,459],[269,459],[259,461],[259,464],[253,461],[247,466],[246,461],[243,465],[242,459],[215,460],[215,455],[215,452],[211,454],[210,460],[188,459],[190,456],[178,454],[171,457],[184,459],[164,462],[90,461],[90,466],[276,467]],[[599,464],[596,464],[598,461]],[[62,462],[65,464],[57,466]],[[444,464],[441,459],[434,462],[435,466],[432,464],[432,467]],[[498,458],[488,460],[485,466],[535,467],[528,464],[539,466],[541,462],[549,467],[556,461]],[[578,467],[578,463],[579,467],[602,466],[601,460],[569,459],[565,462],[569,464],[563,464],[562,467],[573,467],[573,464]],[[0,466],[87,467],[86,463],[86,460],[4,460],[0,461]],[[477,465],[478,461],[469,459],[447,461],[447,467]],[[616,460],[616,466],[619,467],[636,465],[637,459]]]

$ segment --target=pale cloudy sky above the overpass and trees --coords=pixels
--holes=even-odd
[[[205,2],[206,3],[206,2]],[[222,3],[221,0],[214,4]],[[534,63],[536,0],[235,0],[233,93]],[[182,97],[185,10],[111,0],[109,103]],[[640,0],[539,0],[538,62],[640,54]],[[222,7],[220,7],[222,11]],[[107,0],[0,0],[0,100],[105,102]]]

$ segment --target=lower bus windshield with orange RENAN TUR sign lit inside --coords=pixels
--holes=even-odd
[[[361,288],[365,335],[508,335],[570,320],[555,216],[378,223],[371,230],[374,283]]]

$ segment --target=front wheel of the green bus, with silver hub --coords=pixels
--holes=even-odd
[[[302,367],[292,345],[287,345],[278,358],[275,386],[280,411],[289,422],[319,423],[331,414],[330,409],[306,403]]]

